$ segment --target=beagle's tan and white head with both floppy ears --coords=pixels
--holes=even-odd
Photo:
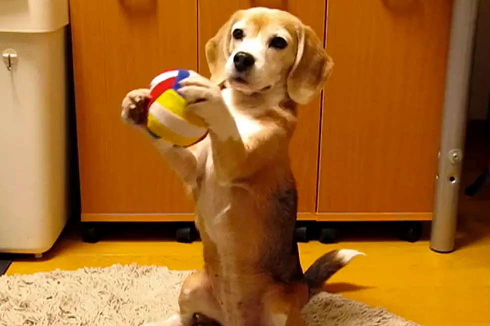
[[[323,87],[333,67],[314,31],[288,12],[237,11],[206,44],[211,80],[243,93],[284,87],[299,104]]]

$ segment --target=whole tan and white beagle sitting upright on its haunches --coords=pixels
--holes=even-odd
[[[266,8],[236,12],[206,55],[211,79],[193,73],[179,92],[208,124],[208,136],[190,148],[154,140],[193,195],[205,266],[184,282],[179,313],[148,325],[206,318],[223,326],[304,325],[300,310],[310,296],[360,254],[335,250],[303,273],[294,240],[296,106],[318,95],[333,62],[310,27]],[[126,121],[144,114],[148,92],[127,94]]]

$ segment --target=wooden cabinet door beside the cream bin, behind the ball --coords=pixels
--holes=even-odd
[[[120,103],[163,69],[197,69],[197,0],[70,5],[82,218],[192,212],[151,141],[121,120]]]

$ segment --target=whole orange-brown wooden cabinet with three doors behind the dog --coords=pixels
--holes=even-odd
[[[208,76],[205,43],[235,10],[252,6],[297,15],[335,61],[324,96],[299,108],[291,144],[299,217],[431,218],[451,1],[70,5],[83,221],[192,220],[181,181],[124,125],[120,102],[163,69]]]

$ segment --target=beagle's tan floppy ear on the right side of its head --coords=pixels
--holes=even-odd
[[[297,34],[296,61],[287,78],[287,92],[294,102],[306,104],[323,88],[333,68],[333,60],[311,27],[302,26]]]

